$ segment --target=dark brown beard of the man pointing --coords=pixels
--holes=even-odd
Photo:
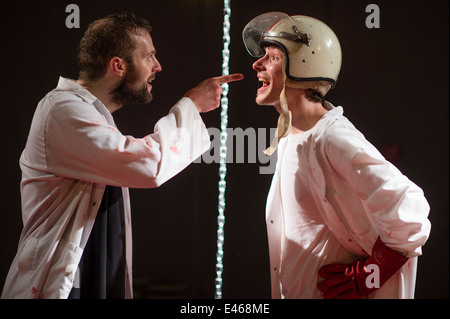
[[[145,82],[140,89],[133,89],[131,86],[136,84],[138,79],[138,74],[134,63],[128,64],[130,67],[125,74],[123,80],[119,85],[112,91],[112,97],[114,102],[118,105],[129,105],[129,104],[147,104],[153,100],[152,94],[148,91],[147,82]]]

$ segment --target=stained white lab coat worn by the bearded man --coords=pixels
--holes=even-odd
[[[23,232],[2,298],[67,298],[105,185],[122,186],[126,297],[132,298],[128,187],[166,182],[210,147],[193,102],[182,98],[144,138],[124,136],[106,107],[60,78],[39,103],[20,158]]]

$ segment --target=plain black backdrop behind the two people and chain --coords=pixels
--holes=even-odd
[[[87,25],[118,11],[133,11],[153,25],[163,71],[154,101],[114,113],[125,134],[142,137],[191,87],[221,74],[219,0],[81,1],[80,29],[68,29],[68,1],[2,3],[2,139],[0,289],[20,231],[19,156],[38,101],[58,77],[77,77],[75,52]],[[380,28],[368,29],[370,3]],[[411,180],[430,203],[431,237],[419,259],[417,298],[448,298],[448,1],[233,0],[229,127],[276,126],[277,113],[254,102],[257,81],[241,32],[267,11],[305,14],[327,23],[343,48],[337,87],[327,99]],[[220,110],[203,115],[220,127]],[[398,156],[386,152],[398,148]],[[259,149],[258,152],[261,152]],[[258,158],[258,157],[257,157]],[[265,202],[271,175],[261,163],[228,164],[224,298],[270,298]],[[130,190],[136,298],[213,298],[218,164],[190,165],[158,189]]]

